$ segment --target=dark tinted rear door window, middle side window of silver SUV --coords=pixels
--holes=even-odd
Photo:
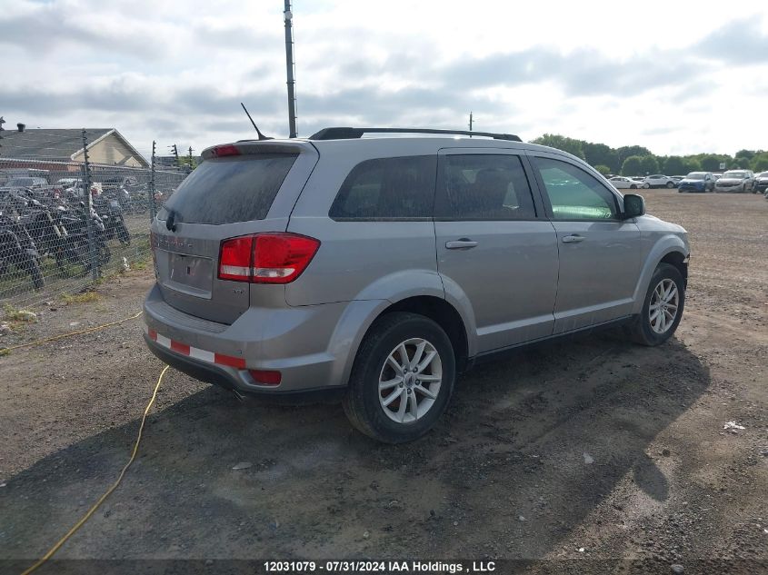
[[[441,162],[435,215],[452,220],[536,217],[531,186],[516,155],[448,154]]]

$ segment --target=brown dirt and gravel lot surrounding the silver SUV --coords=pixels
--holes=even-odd
[[[398,447],[339,406],[241,403],[168,372],[135,466],[57,558],[768,571],[768,202],[643,193],[693,244],[672,342],[603,332],[484,365],[437,429]],[[0,345],[128,316],[150,283],[133,272],[96,302],[47,306]],[[0,358],[0,559],[21,560],[0,571],[41,556],[115,480],[162,368],[140,333],[135,320]]]

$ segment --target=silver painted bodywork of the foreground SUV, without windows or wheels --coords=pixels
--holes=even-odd
[[[650,274],[670,252],[688,255],[679,226],[653,216],[601,222],[554,221],[542,183],[531,177],[539,210],[531,221],[468,222],[417,218],[399,221],[334,221],[329,206],[356,164],[369,158],[473,153],[544,155],[577,165],[611,184],[571,154],[512,141],[463,138],[371,138],[338,141],[270,141],[301,149],[264,220],[217,225],[166,221],[152,224],[159,283],[145,301],[147,330],[168,341],[243,360],[244,367],[206,365],[238,392],[293,392],[344,386],[364,335],[380,314],[414,297],[451,305],[464,324],[466,352],[482,353],[577,331],[638,312]],[[205,157],[205,154],[204,154]],[[613,190],[619,210],[623,196]],[[543,207],[544,206],[544,207]],[[320,248],[294,282],[204,283],[171,278],[171,256],[211,260],[217,269],[225,238],[258,232],[299,233],[317,238]],[[579,233],[583,243],[563,243]],[[464,236],[487,251],[447,250]],[[192,243],[190,245],[189,243]],[[183,258],[182,258],[183,261]],[[184,266],[179,264],[178,269]],[[559,276],[559,281],[558,281]],[[613,287],[612,287],[613,286]],[[200,362],[173,349],[182,369],[197,373]],[[170,354],[170,355],[169,355]],[[185,363],[186,362],[186,363]],[[186,367],[185,367],[186,366]],[[248,370],[277,370],[278,385],[255,382]]]

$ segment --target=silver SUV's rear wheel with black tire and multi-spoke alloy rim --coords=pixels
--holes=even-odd
[[[454,347],[436,322],[416,313],[387,313],[360,344],[344,412],[375,440],[414,441],[445,411],[455,378]]]

